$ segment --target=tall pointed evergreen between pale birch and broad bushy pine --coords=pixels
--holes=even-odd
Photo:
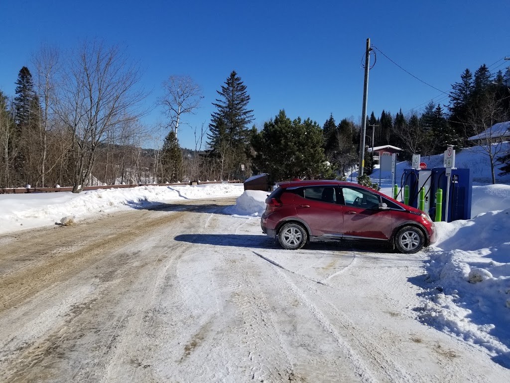
[[[217,110],[211,114],[207,135],[210,154],[222,165],[221,177],[239,177],[240,164],[247,160],[248,125],[254,119],[253,110],[247,108],[250,96],[235,70],[217,93],[220,98],[213,103]]]

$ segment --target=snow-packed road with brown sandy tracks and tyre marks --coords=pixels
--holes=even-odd
[[[424,254],[285,251],[233,201],[0,236],[0,381],[510,381],[415,319]]]

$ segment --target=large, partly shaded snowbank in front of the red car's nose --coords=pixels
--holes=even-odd
[[[492,188],[483,189],[491,194]],[[504,210],[436,223],[438,242],[426,264],[429,289],[423,296],[428,300],[419,319],[483,346],[510,368],[510,202],[506,201]]]

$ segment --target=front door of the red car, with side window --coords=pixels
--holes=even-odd
[[[361,187],[342,186],[343,237],[389,240],[393,230],[391,210],[379,209],[380,197]]]

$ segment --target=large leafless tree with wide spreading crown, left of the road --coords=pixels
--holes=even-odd
[[[98,146],[109,137],[119,139],[123,125],[143,114],[145,94],[137,87],[138,65],[119,47],[100,41],[86,41],[71,53],[61,80],[55,110],[72,134],[72,191],[79,193],[90,179]]]

